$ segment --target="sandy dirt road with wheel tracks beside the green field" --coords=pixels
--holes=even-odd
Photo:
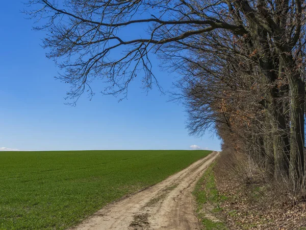
[[[218,152],[213,152],[157,185],[105,206],[73,229],[200,229],[191,193],[217,155]]]

